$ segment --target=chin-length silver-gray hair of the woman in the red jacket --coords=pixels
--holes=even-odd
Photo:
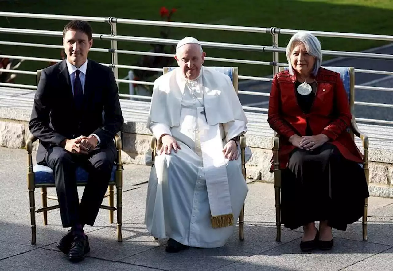
[[[303,31],[293,35],[292,38],[289,40],[288,45],[286,46],[286,59],[289,63],[289,73],[291,75],[294,75],[294,69],[292,68],[290,54],[292,53],[293,48],[297,45],[298,42],[303,43],[306,47],[307,53],[315,57],[314,69],[311,71],[311,73],[316,76],[322,63],[321,42],[311,33]]]

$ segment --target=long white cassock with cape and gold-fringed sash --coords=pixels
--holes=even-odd
[[[207,122],[201,114],[204,108]],[[232,82],[223,73],[202,67],[199,77],[187,82],[176,68],[156,79],[147,126],[157,139],[172,135],[181,150],[155,157],[145,212],[152,236],[191,247],[226,243],[248,187],[241,171],[240,144],[237,160],[225,159],[222,148],[247,131],[246,123]],[[233,214],[229,225],[212,226],[213,217],[228,219],[229,213]]]

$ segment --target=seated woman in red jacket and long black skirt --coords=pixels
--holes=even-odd
[[[289,68],[273,78],[268,112],[280,136],[282,223],[303,225],[303,251],[331,249],[332,227],[345,231],[363,215],[369,192],[362,154],[347,132],[347,93],[340,75],[321,67],[318,38],[296,33],[286,57]]]

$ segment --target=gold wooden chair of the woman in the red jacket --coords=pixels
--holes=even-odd
[[[356,125],[356,120],[354,116],[355,109],[355,71],[353,67],[324,67],[328,70],[335,71],[340,73],[341,79],[343,81],[345,90],[347,91],[348,100],[351,108],[352,120],[351,127],[349,132],[351,133],[352,138],[354,139],[354,135],[362,139],[363,146],[363,163],[362,167],[364,170],[364,174],[367,180],[367,186],[369,183],[369,168],[368,168],[368,144],[369,140],[367,135],[362,133],[358,126]],[[280,68],[280,71],[283,71],[285,68]],[[279,135],[277,134],[274,137],[274,190],[275,190],[275,214],[276,214],[276,227],[277,227],[277,235],[276,241],[280,242],[281,240],[281,170],[280,170],[280,162],[278,156],[279,150]],[[362,229],[363,229],[363,240],[367,241],[367,198],[364,202],[364,213],[362,218]]]

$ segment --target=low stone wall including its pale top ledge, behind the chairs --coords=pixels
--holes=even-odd
[[[0,87],[0,146],[24,148],[30,135],[28,121],[33,106],[34,91]],[[13,97],[14,100],[5,99]],[[123,125],[123,162],[145,164],[145,152],[149,149],[151,133],[145,127],[149,102],[121,99],[125,119]],[[271,183],[269,172],[272,157],[274,131],[263,113],[246,113],[249,123],[246,134],[247,145],[253,156],[247,163],[247,178]],[[369,179],[373,196],[393,198],[393,127],[358,124],[360,130],[370,137]],[[379,137],[379,138],[377,138]],[[362,143],[356,137],[362,151]]]

